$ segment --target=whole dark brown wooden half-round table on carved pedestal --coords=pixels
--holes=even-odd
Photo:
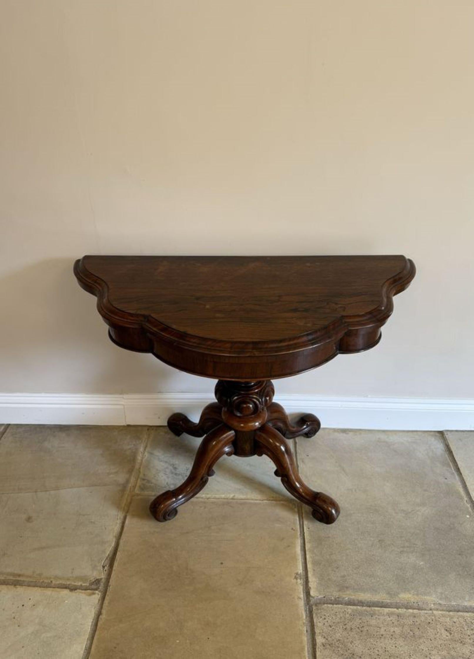
[[[174,414],[177,436],[203,437],[191,472],[151,502],[158,521],[201,490],[223,455],[267,455],[313,517],[332,524],[339,506],[300,477],[285,438],[312,437],[316,416],[291,421],[273,402],[271,378],[377,345],[393,296],[415,276],[404,256],[84,256],[78,282],[97,297],[109,337],[175,368],[218,380],[217,402],[198,423]]]

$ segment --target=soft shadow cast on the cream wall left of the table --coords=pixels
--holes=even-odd
[[[171,367],[111,343],[95,298],[76,282],[73,263],[69,258],[47,259],[0,279],[0,391],[172,389],[170,379],[178,374]]]

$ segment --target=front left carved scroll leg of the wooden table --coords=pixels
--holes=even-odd
[[[213,466],[223,455],[234,453],[235,432],[221,425],[205,436],[198,448],[194,464],[188,478],[176,490],[168,490],[159,494],[151,501],[149,510],[159,522],[166,522],[176,517],[178,506],[192,499],[202,490],[209,476],[212,476]]]

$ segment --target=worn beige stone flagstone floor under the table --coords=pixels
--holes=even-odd
[[[155,522],[199,444],[167,428],[0,436],[1,659],[474,657],[474,432],[299,439],[330,527],[266,457]]]

